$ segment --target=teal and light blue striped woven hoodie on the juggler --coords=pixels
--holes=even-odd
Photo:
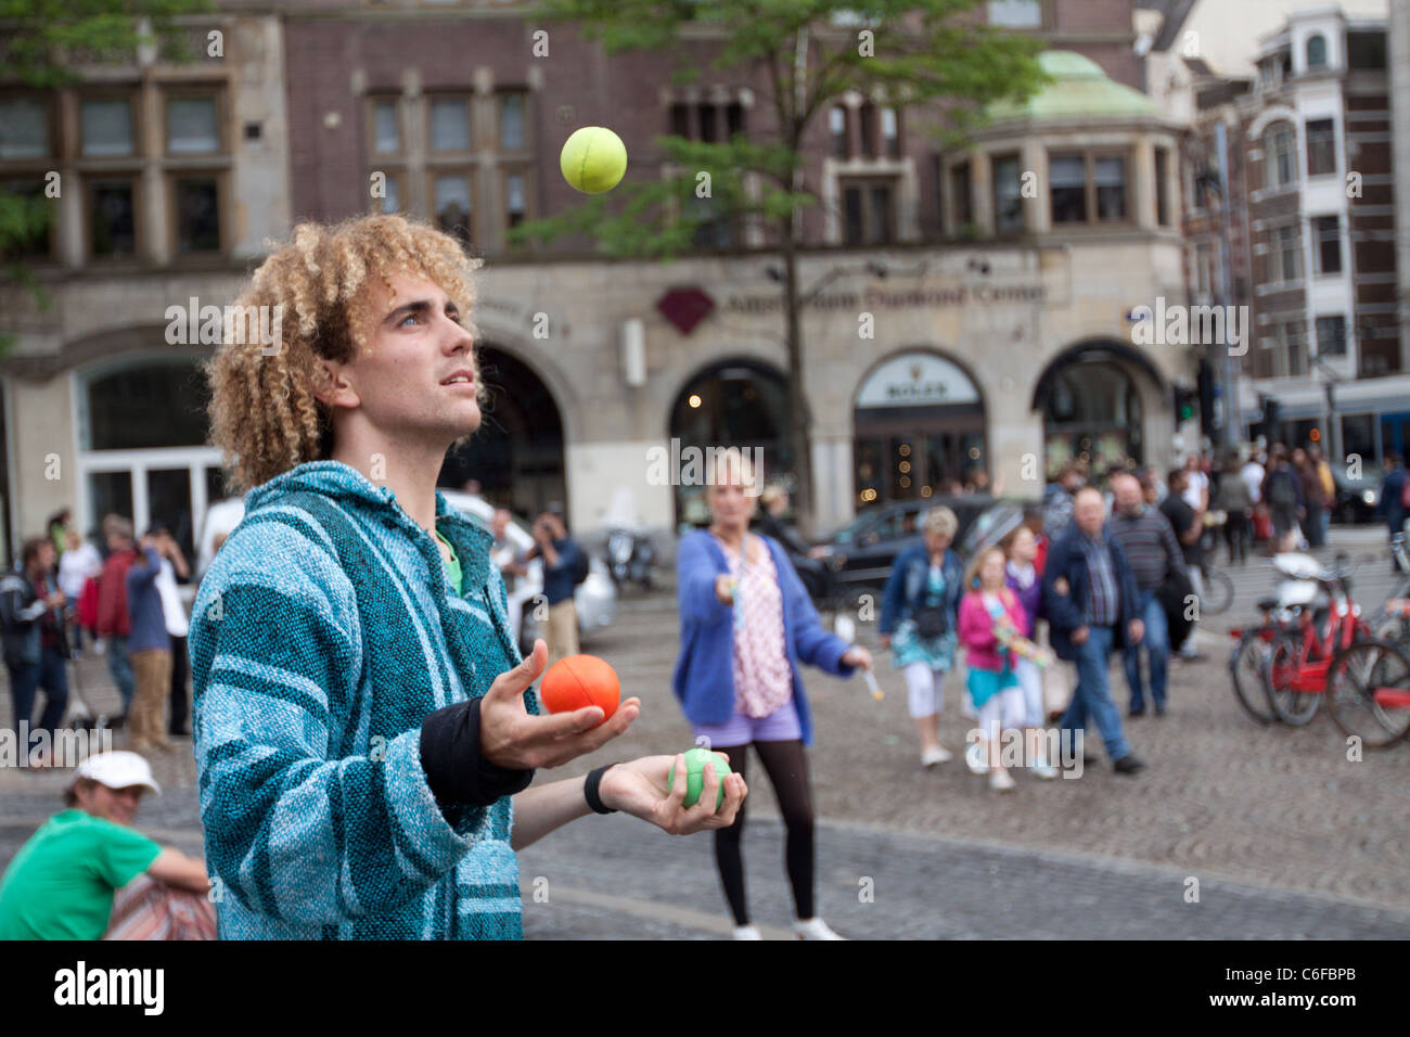
[[[457,595],[433,538],[347,464],[300,464],[245,508],[189,642],[220,937],[522,937],[512,800],[443,814],[420,762],[424,717],[522,660],[489,532],[437,492]]]

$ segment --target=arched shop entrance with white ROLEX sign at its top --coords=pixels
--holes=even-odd
[[[987,478],[984,399],[964,368],[938,353],[908,350],[873,368],[857,389],[853,426],[859,508]]]

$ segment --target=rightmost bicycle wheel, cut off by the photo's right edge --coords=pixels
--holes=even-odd
[[[1327,711],[1368,749],[1410,734],[1410,655],[1390,641],[1356,641],[1337,653],[1327,674]]]

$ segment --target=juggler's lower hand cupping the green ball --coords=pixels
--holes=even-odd
[[[735,824],[735,815],[749,794],[749,787],[740,775],[725,776],[725,801],[716,810],[719,777],[715,776],[715,765],[706,763],[701,780],[701,799],[694,807],[687,807],[687,782],[677,780],[674,787],[667,784],[673,766],[677,776],[684,779],[685,756],[643,756],[619,763],[602,775],[598,794],[605,806],[650,821],[671,835],[689,835],[705,828],[728,828]]]

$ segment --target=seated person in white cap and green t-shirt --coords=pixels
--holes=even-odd
[[[135,752],[79,766],[68,810],[20,847],[0,879],[0,940],[214,940],[206,865],[131,824],[161,793]]]

